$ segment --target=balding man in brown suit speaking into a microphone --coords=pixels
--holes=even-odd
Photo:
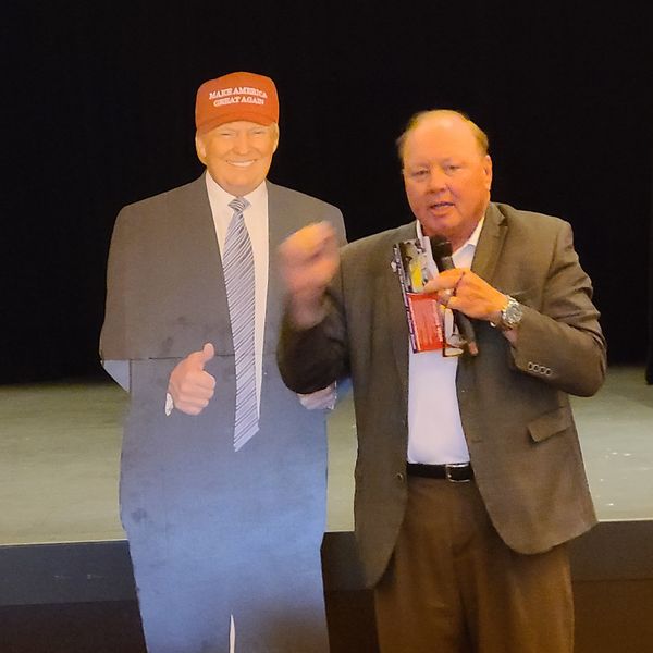
[[[356,534],[383,653],[572,651],[565,543],[595,516],[567,393],[604,379],[591,284],[562,220],[490,201],[485,134],[416,115],[398,140],[417,223],[348,245],[325,224],[282,245],[282,377],[350,375]],[[426,287],[471,319],[478,354],[409,350],[393,245],[448,239]]]

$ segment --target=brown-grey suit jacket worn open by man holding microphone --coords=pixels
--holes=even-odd
[[[286,321],[279,352],[298,392],[352,377],[356,533],[370,584],[406,503],[408,330],[391,259],[393,243],[415,236],[412,223],[345,247],[328,317],[305,332]],[[603,381],[599,313],[562,220],[491,204],[472,269],[525,313],[515,347],[476,322],[480,354],[460,358],[456,379],[465,436],[496,530],[515,551],[538,553],[595,522],[567,393],[591,395]]]

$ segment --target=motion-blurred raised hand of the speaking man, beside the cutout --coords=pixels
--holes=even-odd
[[[329,222],[309,224],[288,236],[279,255],[291,318],[296,326],[309,329],[324,317],[324,289],[340,267],[335,232]]]

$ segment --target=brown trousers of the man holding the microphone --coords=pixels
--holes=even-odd
[[[382,653],[574,650],[566,545],[515,553],[473,481],[408,478],[406,516],[374,603]]]

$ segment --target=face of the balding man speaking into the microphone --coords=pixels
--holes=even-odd
[[[404,186],[426,235],[448,238],[456,250],[471,235],[490,201],[492,160],[471,123],[433,112],[406,135]]]

